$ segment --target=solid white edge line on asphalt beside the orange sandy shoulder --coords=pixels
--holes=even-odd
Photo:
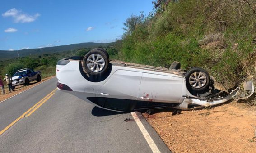
[[[137,125],[139,126],[141,133],[143,134],[144,138],[146,139],[153,153],[161,153],[158,147],[156,146],[156,144],[154,143],[153,139],[150,137],[148,131],[145,129],[145,127],[141,123],[140,118],[137,116],[136,112],[131,112],[131,115],[134,118]]]

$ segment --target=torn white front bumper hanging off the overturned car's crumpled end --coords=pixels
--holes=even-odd
[[[221,97],[219,99],[199,99],[199,98],[185,98],[184,101],[177,107],[174,107],[176,109],[182,109],[182,110],[189,110],[189,109],[196,109],[201,107],[208,107],[208,106],[214,106],[218,105],[220,103],[225,103],[230,99],[233,99],[239,91],[239,87],[237,87],[235,90],[232,90],[230,94]]]

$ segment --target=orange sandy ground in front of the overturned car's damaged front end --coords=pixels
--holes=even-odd
[[[246,104],[143,115],[174,153],[256,153],[256,109]]]

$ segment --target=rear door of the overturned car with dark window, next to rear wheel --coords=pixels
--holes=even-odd
[[[142,72],[117,70],[90,100],[104,108],[129,111],[138,98],[141,76]]]

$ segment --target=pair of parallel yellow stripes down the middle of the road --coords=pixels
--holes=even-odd
[[[47,94],[43,99],[41,99],[39,102],[37,102],[34,106],[29,108],[26,112],[24,112],[20,117],[18,117],[15,121],[13,121],[11,124],[6,126],[3,130],[0,131],[0,135],[2,135],[6,130],[8,130],[11,126],[13,126],[17,121],[24,117],[29,117],[33,112],[35,112],[42,104],[44,104],[48,99],[51,98],[56,92],[57,88],[53,91],[51,91],[50,94]]]

